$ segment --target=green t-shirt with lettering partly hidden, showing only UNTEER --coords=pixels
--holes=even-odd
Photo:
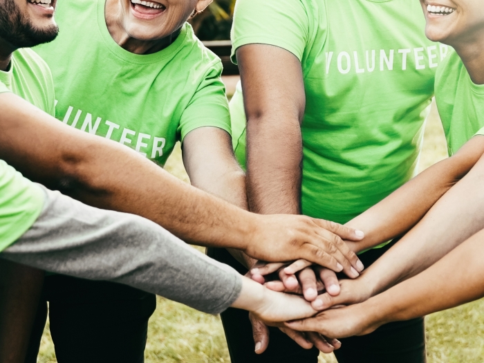
[[[173,44],[136,55],[112,39],[105,0],[59,1],[55,41],[35,47],[53,72],[56,117],[165,165],[198,127],[230,133],[220,59],[185,24]],[[74,20],[75,19],[75,20]]]

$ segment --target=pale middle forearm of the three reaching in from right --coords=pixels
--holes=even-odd
[[[449,190],[424,218],[364,272],[373,294],[409,279],[483,229],[484,159]]]

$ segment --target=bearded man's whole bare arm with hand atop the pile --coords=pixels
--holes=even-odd
[[[243,211],[181,182],[136,151],[58,122],[16,95],[1,94],[0,109],[0,158],[32,180],[95,207],[144,216],[187,242],[237,248],[270,261],[304,255],[341,270],[332,254],[340,258],[343,252],[333,250],[344,243],[326,221]]]

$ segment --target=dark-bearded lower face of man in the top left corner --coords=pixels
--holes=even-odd
[[[55,2],[0,0],[0,38],[15,48],[53,41],[59,32],[54,20]]]

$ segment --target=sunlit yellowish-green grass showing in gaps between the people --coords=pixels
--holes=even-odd
[[[436,110],[425,128],[420,170],[447,156],[443,129]],[[166,169],[188,181],[179,147]],[[429,363],[472,363],[484,361],[484,301],[427,317]],[[146,350],[147,363],[224,363],[230,362],[219,317],[199,313],[161,297],[150,319]],[[55,352],[48,325],[41,342],[39,362],[53,363]],[[319,363],[335,363],[333,355],[321,355]],[[391,363],[391,362],[389,362]]]

